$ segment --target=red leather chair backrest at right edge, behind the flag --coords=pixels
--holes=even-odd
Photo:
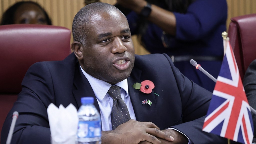
[[[232,17],[228,37],[243,80],[248,66],[256,59],[256,14]]]

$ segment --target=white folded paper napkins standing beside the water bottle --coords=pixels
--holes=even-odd
[[[69,104],[56,107],[50,104],[47,108],[51,131],[51,144],[75,144],[78,127],[77,109]]]

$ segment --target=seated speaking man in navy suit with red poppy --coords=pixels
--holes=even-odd
[[[83,7],[72,33],[73,53],[65,60],[39,62],[27,71],[4,123],[1,144],[14,111],[19,118],[12,143],[50,143],[49,104],[71,103],[78,109],[81,97],[87,96],[94,97],[101,113],[102,143],[226,143],[202,131],[211,92],[184,77],[165,54],[134,56],[127,19],[117,8],[105,3]],[[155,85],[149,94],[132,87],[144,80]],[[103,92],[112,85],[121,87],[131,116],[115,130],[108,121],[113,99]],[[152,104],[143,105],[145,99]]]

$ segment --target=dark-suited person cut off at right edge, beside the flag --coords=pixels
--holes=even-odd
[[[256,59],[252,61],[246,70],[243,78],[244,91],[249,102],[249,105],[256,109]],[[252,113],[253,126],[254,126],[254,138],[256,138],[256,115]]]

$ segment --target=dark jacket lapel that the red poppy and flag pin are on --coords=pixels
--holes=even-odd
[[[133,73],[134,72],[134,73]],[[133,88],[133,84],[141,83],[146,79],[141,78],[141,71],[140,70],[133,70],[133,76],[128,78],[128,91],[132,101],[132,106],[134,109],[134,113],[136,116],[137,121],[151,121],[155,125],[157,125],[157,107],[156,107],[156,100],[154,91],[150,94],[145,94],[141,92],[139,89]],[[150,100],[152,102],[151,106],[148,104],[142,104],[143,100]]]

